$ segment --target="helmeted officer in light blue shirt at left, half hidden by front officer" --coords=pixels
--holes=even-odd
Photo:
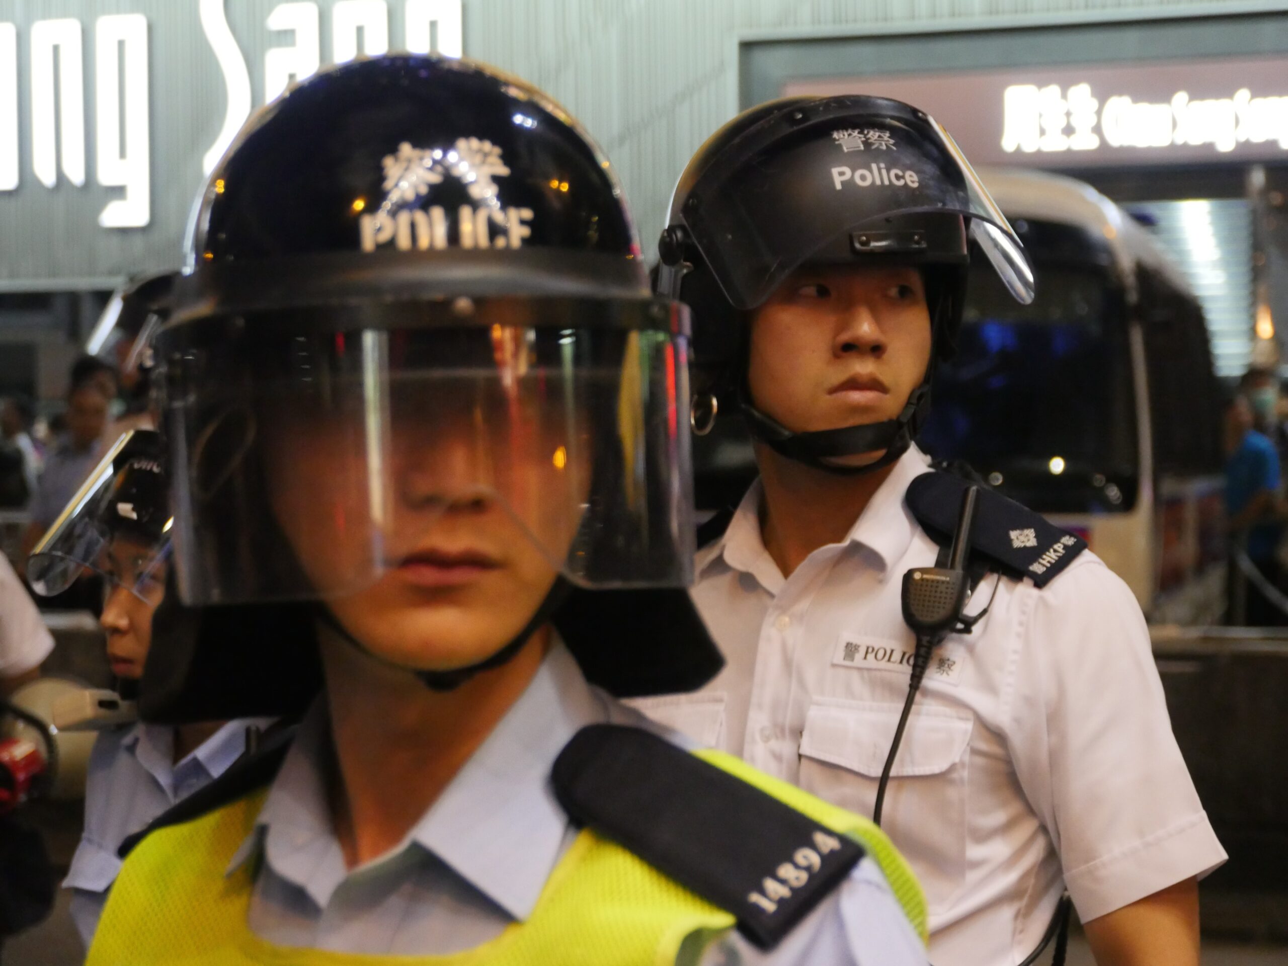
[[[124,435],[95,468],[97,489],[59,515],[27,564],[32,587],[57,595],[82,568],[104,581],[99,625],[122,701],[138,696],[152,644],[152,614],[165,598],[169,498],[156,433]],[[48,653],[48,652],[46,652]],[[121,859],[117,849],[152,819],[222,775],[246,750],[247,729],[272,719],[171,725],[109,716],[89,762],[85,824],[63,887],[86,948]]]

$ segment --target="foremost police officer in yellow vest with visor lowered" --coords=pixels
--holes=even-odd
[[[250,121],[194,225],[156,344],[185,607],[142,711],[322,693],[128,844],[89,962],[923,962],[878,829],[611,696],[719,656],[685,312],[576,122],[355,62]],[[240,654],[272,687],[224,687]]]

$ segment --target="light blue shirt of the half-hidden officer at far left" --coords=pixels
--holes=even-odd
[[[63,889],[72,890],[71,914],[89,947],[126,837],[180,799],[228,770],[246,750],[246,728],[268,728],[270,717],[229,721],[174,764],[174,728],[139,724],[103,732],[94,742],[85,781],[85,827]]]

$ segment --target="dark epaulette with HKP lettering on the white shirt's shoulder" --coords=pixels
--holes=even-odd
[[[970,480],[951,473],[923,473],[904,497],[912,515],[940,546],[952,541],[962,492]],[[1016,580],[1045,587],[1087,549],[1087,541],[1060,529],[1042,514],[980,487],[971,526],[971,554]]]

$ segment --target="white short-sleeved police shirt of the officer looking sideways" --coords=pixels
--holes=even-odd
[[[693,694],[631,702],[699,743],[863,815],[908,689],[900,586],[938,546],[904,505],[916,448],[845,542],[787,580],[752,487],[698,555],[698,609],[728,661]],[[1038,590],[989,576],[974,632],[936,650],[886,793],[884,826],[930,903],[936,966],[1015,963],[1061,890],[1083,921],[1225,860],[1172,735],[1127,586],[1083,553]]]

